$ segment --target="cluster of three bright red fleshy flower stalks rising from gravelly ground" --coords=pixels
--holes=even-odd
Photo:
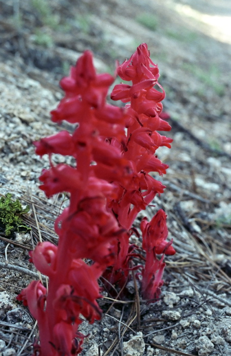
[[[132,81],[116,85],[111,94],[113,100],[130,101],[125,108],[106,104],[114,78],[97,75],[92,53],[85,51],[70,76],[61,80],[65,97],[51,111],[52,121],[76,124],[74,133],[62,131],[35,142],[36,153],[50,159],[40,189],[47,197],[70,194],[69,206],[54,225],[59,245],[39,243],[30,254],[36,268],[49,277],[49,290],[33,281],[17,297],[38,320],[40,344],[35,350],[42,356],[81,351],[81,316],[92,323],[101,315],[98,279],[104,274],[110,283],[126,282],[130,260],[138,256],[129,244],[132,223],[165,188],[149,174],[165,173],[168,166],[155,152],[159,146],[170,147],[172,140],[156,131],[168,131],[170,126],[159,117],[164,92],[153,87],[159,85],[159,74],[147,45],[140,45],[117,71]],[[75,165],[54,165],[52,154],[72,156]],[[147,254],[142,294],[154,299],[162,284],[163,256],[175,250],[165,241],[162,211],[150,223],[144,219],[141,230]],[[160,261],[156,254],[162,254]]]

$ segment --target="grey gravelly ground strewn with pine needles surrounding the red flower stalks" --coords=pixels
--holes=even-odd
[[[29,355],[38,336],[15,298],[37,278],[28,250],[39,231],[57,242],[63,197],[47,200],[39,190],[49,162],[32,142],[68,129],[49,118],[63,96],[59,80],[85,49],[99,72],[112,74],[142,42],[159,66],[174,139],[171,150],[158,150],[167,188],[146,214],[165,210],[177,253],[166,258],[157,303],[137,293],[133,303],[100,301],[102,320],[82,324],[89,337],[81,355],[231,354],[230,18],[225,0],[0,0],[0,196],[29,204],[24,223],[32,228],[0,230],[0,355]]]

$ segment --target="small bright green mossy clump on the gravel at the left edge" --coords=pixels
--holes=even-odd
[[[28,213],[30,206],[27,205],[24,209],[20,201],[12,200],[12,194],[0,199],[0,230],[5,231],[6,235],[10,235],[13,231],[26,232],[31,228],[24,225],[21,216]]]

